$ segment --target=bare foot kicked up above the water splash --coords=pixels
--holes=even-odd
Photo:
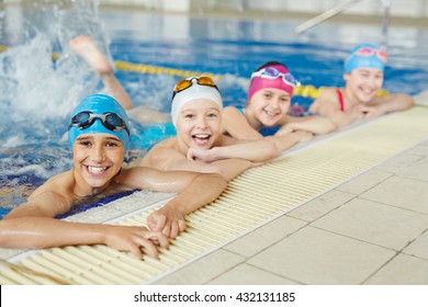
[[[111,73],[113,71],[109,60],[89,36],[80,35],[71,38],[70,47],[76,54],[85,59],[97,73]]]

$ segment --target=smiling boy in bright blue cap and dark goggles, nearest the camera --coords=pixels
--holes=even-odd
[[[226,187],[218,174],[161,172],[150,168],[123,169],[129,139],[124,109],[111,96],[94,94],[75,109],[68,128],[74,168],[36,189],[27,202],[0,220],[0,247],[50,248],[105,245],[142,258],[140,248],[158,257],[156,246],[168,247],[185,228],[184,216],[215,200]],[[85,201],[117,191],[150,189],[177,192],[151,213],[145,227],[82,224],[55,217]]]

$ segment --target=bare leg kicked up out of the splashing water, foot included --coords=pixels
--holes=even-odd
[[[111,95],[121,103],[133,120],[143,124],[164,123],[170,121],[168,114],[151,110],[147,105],[133,105],[129,95],[114,75],[114,69],[110,61],[102,54],[91,37],[80,35],[70,39],[69,44],[71,49],[79,55],[97,75],[100,76],[104,86],[104,93]]]

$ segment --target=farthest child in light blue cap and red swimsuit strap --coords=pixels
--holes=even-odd
[[[373,44],[356,46],[345,61],[345,88],[327,88],[314,101],[309,112],[330,118],[342,127],[360,118],[404,111],[414,105],[405,93],[378,96],[384,80],[385,52]]]

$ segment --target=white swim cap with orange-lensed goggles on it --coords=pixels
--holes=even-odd
[[[171,118],[174,126],[181,107],[195,99],[212,100],[218,105],[219,110],[223,110],[222,95],[210,77],[190,77],[180,80],[173,89],[171,102]]]

